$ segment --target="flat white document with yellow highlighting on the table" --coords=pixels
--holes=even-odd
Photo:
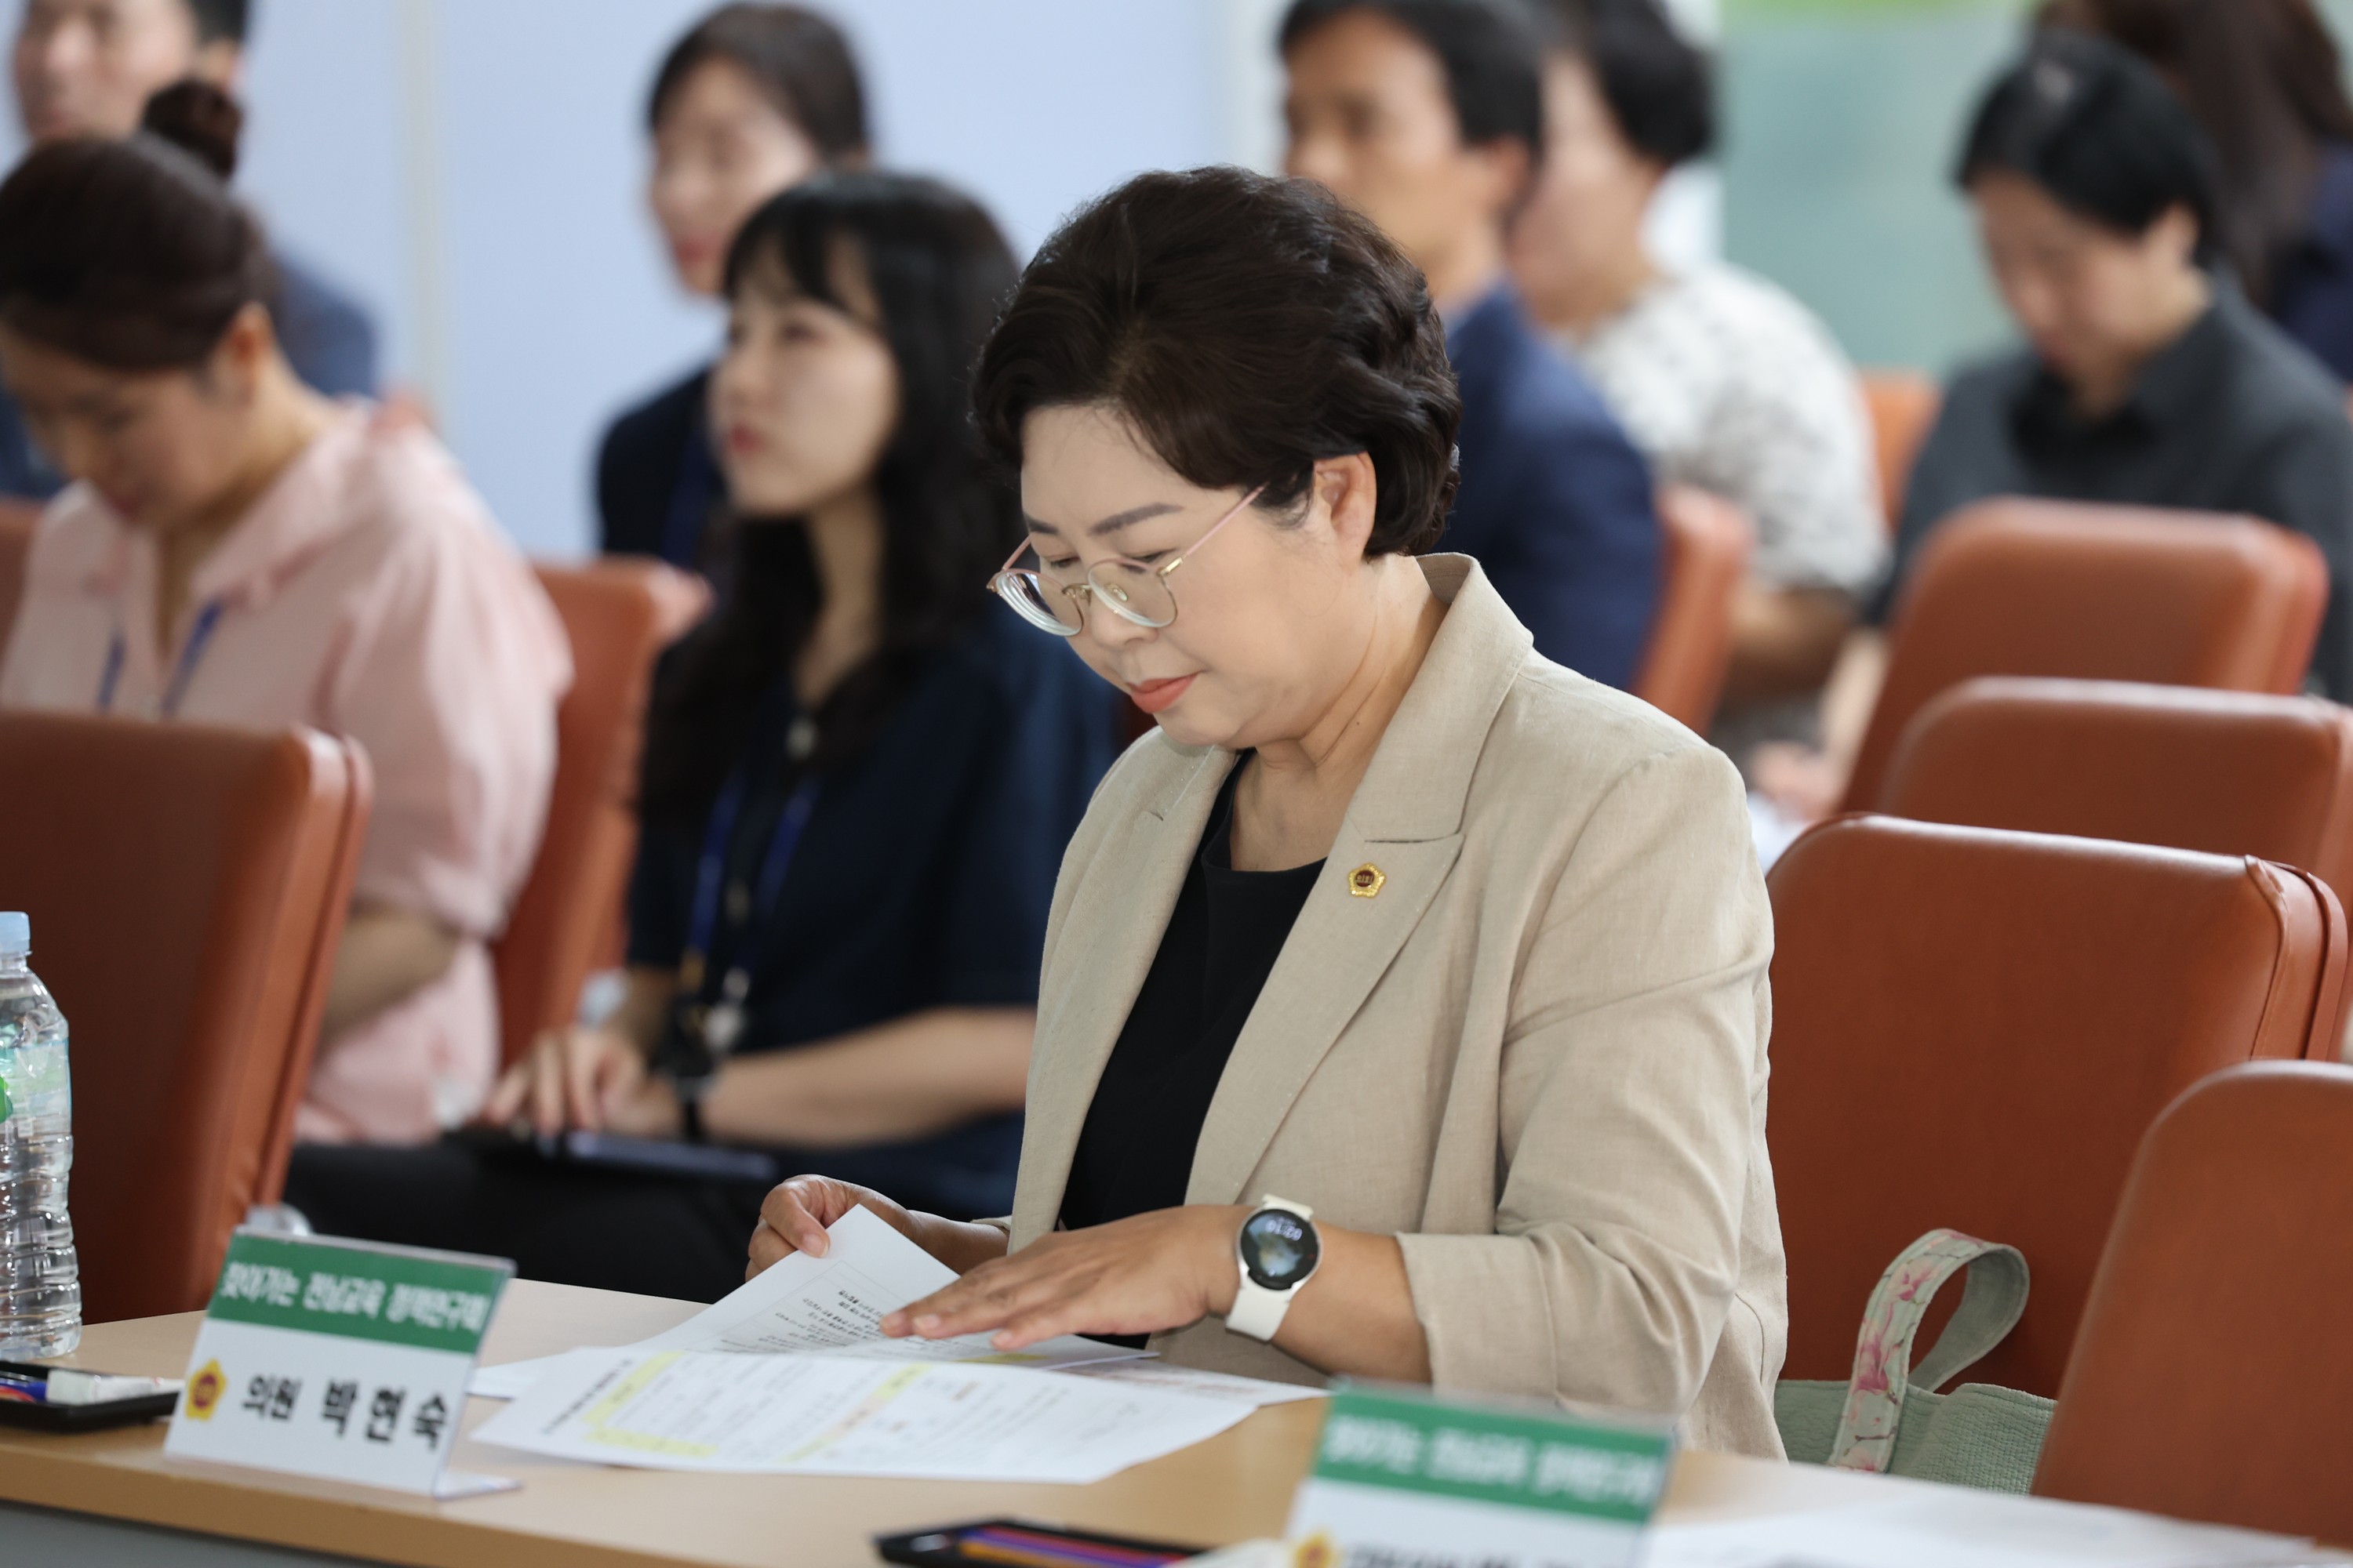
[[[986,1361],[576,1349],[473,1436],[645,1469],[1085,1483],[1245,1415],[1238,1399]]]

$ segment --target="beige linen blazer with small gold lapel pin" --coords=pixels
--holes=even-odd
[[[1273,1192],[1395,1234],[1440,1389],[1673,1415],[1694,1446],[1779,1458],[1772,914],[1739,776],[1673,719],[1539,658],[1468,557],[1421,564],[1447,618],[1233,1046],[1186,1201]],[[1016,1248],[1056,1225],[1233,762],[1153,731],[1071,842]],[[1384,877],[1372,898],[1348,891],[1360,865]],[[1322,1380],[1217,1319],[1153,1345]]]

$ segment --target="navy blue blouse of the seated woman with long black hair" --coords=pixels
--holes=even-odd
[[[991,602],[875,743],[819,783],[776,907],[748,936],[736,1053],[788,1051],[934,1006],[1035,1006],[1054,877],[1111,766],[1115,701],[1059,637]],[[762,724],[753,748],[781,745],[781,729]],[[765,858],[791,788],[767,757],[751,762],[755,783],[727,849],[739,875]],[[706,832],[708,823],[647,823],[628,898],[631,964],[680,961]],[[715,957],[732,961],[725,950]],[[786,1164],[976,1218],[1009,1213],[1019,1154],[1021,1117],[1007,1114]]]

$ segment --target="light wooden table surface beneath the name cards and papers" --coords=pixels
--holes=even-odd
[[[482,1361],[576,1345],[626,1345],[699,1312],[692,1302],[515,1281]],[[179,1378],[200,1314],[96,1324],[71,1359],[106,1373]],[[496,1406],[473,1399],[466,1432]],[[546,1460],[468,1439],[452,1469],[522,1481],[522,1490],[433,1502],[259,1469],[162,1458],[162,1422],[47,1436],[0,1429],[0,1500],[151,1526],[433,1568],[725,1563],[849,1568],[871,1540],[922,1526],[1024,1514],[1148,1540],[1226,1544],[1280,1535],[1306,1474],[1322,1401],[1271,1406],[1238,1427],[1094,1486],[706,1476]],[[1831,1507],[1857,1488],[1908,1486],[1725,1455],[1685,1455],[1668,1519],[1734,1519]]]

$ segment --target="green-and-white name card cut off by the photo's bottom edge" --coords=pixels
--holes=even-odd
[[[1304,1568],[1628,1568],[1671,1460],[1664,1425],[1341,1387],[1287,1535]]]

